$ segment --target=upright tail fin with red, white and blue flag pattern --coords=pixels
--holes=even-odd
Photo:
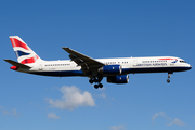
[[[41,60],[18,36],[10,36],[10,40],[20,63],[31,64]]]

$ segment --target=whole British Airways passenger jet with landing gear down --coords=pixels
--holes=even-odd
[[[67,47],[62,49],[69,53],[70,60],[44,61],[18,36],[10,36],[10,40],[17,56],[17,62],[4,58],[13,65],[11,69],[53,77],[89,77],[89,82],[94,83],[95,89],[103,88],[101,81],[104,77],[109,83],[128,83],[128,74],[140,73],[168,73],[169,83],[171,74],[192,68],[184,60],[176,56],[92,58]]]

